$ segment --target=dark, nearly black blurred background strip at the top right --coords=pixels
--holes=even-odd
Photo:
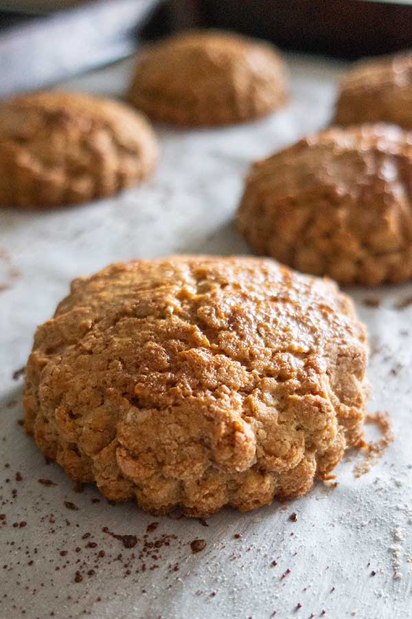
[[[364,0],[172,0],[152,28],[238,30],[283,49],[341,58],[412,47],[412,6]]]

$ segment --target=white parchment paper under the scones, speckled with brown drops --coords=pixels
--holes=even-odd
[[[1,618],[412,616],[412,305],[396,308],[409,283],[350,291],[371,334],[369,410],[391,413],[396,441],[360,478],[361,456],[349,453],[336,488],[317,482],[286,506],[224,510],[207,523],[154,518],[108,504],[93,486],[79,492],[19,425],[23,379],[12,373],[74,276],[133,257],[248,253],[232,224],[242,176],[254,158],[328,122],[345,68],[287,59],[286,109],[227,129],[158,127],[161,162],[143,186],[49,213],[1,210]],[[67,85],[116,94],[129,74],[126,61]],[[197,554],[194,539],[206,543]]]

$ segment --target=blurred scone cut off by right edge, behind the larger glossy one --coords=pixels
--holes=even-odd
[[[380,121],[412,129],[412,54],[356,63],[343,77],[334,122]]]

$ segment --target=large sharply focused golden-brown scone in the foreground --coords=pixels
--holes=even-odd
[[[304,494],[358,442],[366,365],[331,281],[270,259],[118,263],[37,329],[25,428],[109,499],[250,510]]]

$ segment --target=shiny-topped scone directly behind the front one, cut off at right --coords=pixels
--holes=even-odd
[[[255,252],[341,284],[412,276],[412,135],[332,128],[253,164],[237,215]]]

